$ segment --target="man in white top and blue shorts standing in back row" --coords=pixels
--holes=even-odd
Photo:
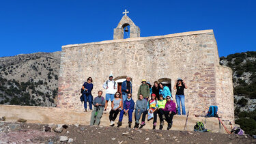
[[[111,100],[111,105],[114,100],[115,92],[117,91],[117,83],[113,80],[113,75],[109,75],[109,79],[103,84],[103,88],[106,89],[106,104],[105,111],[108,107],[108,102]]]

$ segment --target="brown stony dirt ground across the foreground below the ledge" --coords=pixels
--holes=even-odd
[[[60,140],[61,136],[65,139]],[[0,121],[0,143],[256,143],[256,139],[251,136],[212,132],[134,130],[104,126],[57,126]]]

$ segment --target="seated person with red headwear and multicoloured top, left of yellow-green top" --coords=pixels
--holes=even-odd
[[[157,110],[158,110],[158,102],[156,100],[156,95],[152,93],[151,100],[147,102],[147,112],[153,113],[153,130],[156,129],[156,120],[157,120]],[[139,128],[143,128],[145,126],[145,117],[147,113],[143,113],[141,119],[141,126]],[[148,119],[149,120],[149,119]]]

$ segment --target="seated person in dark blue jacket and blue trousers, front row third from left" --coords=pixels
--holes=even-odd
[[[127,98],[124,101],[123,109],[122,109],[122,111],[120,112],[120,115],[119,115],[119,121],[117,123],[117,127],[122,126],[122,120],[123,120],[124,114],[125,115],[128,114],[128,117],[129,117],[128,124],[129,124],[129,128],[131,128],[133,110],[134,110],[134,101],[132,100],[132,94],[128,93]]]

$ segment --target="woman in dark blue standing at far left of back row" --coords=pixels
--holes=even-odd
[[[91,95],[91,91],[92,89],[94,89],[94,85],[92,84],[92,78],[89,77],[87,78],[87,82],[85,82],[83,84],[83,99],[85,100],[85,102],[83,103],[84,107],[85,107],[85,112],[87,112],[87,102],[89,102],[89,109],[90,111],[92,111],[92,95]]]

